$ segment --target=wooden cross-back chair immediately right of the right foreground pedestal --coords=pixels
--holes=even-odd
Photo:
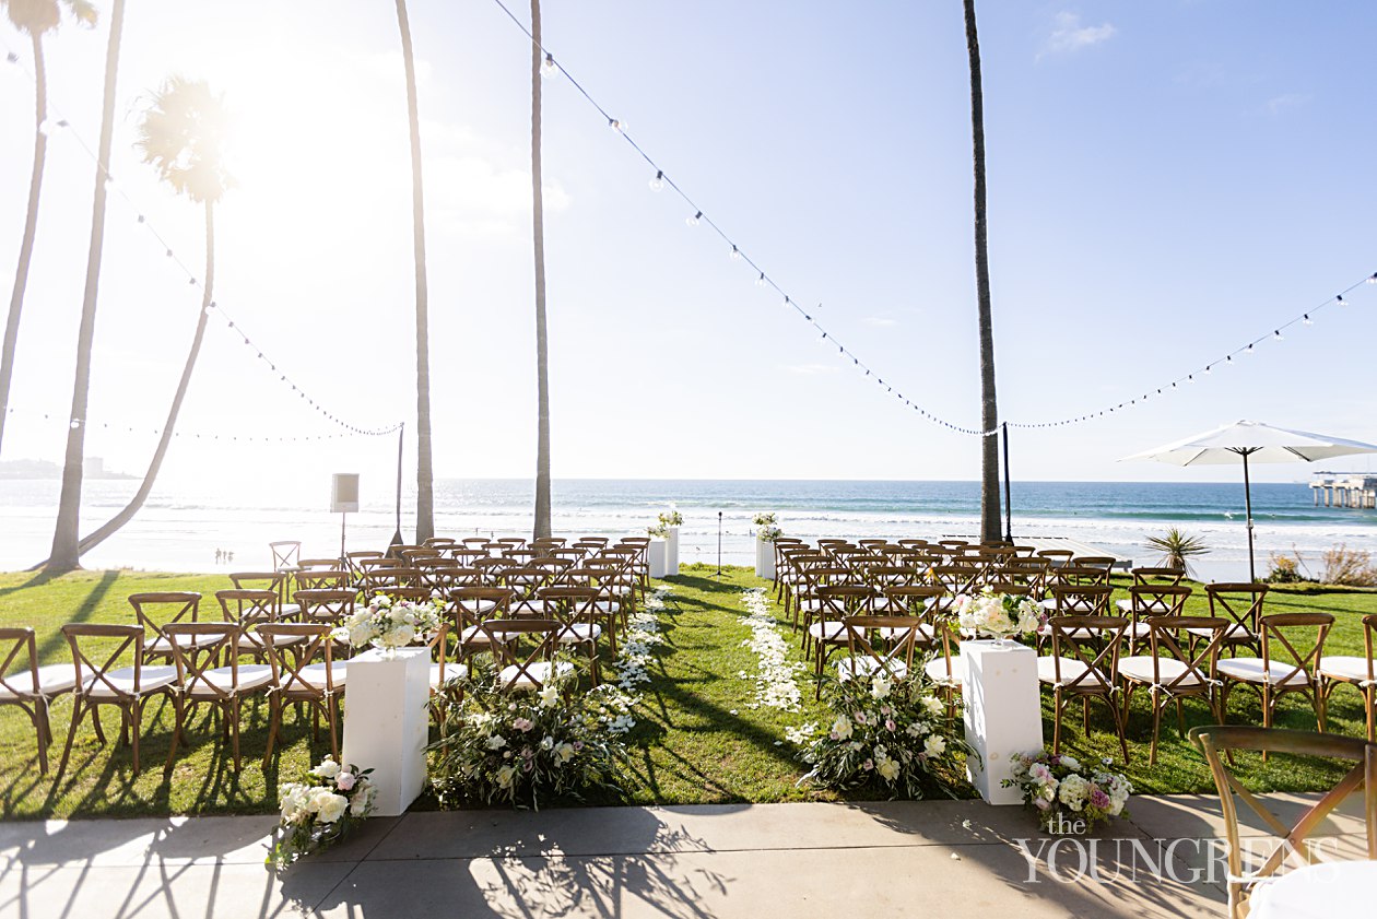
[[[1099,699],[1110,710],[1126,763],[1124,712],[1115,704],[1114,693],[1128,620],[1122,616],[1053,616],[1047,627],[1052,656],[1037,659],[1037,675],[1041,683],[1052,689],[1052,752],[1062,752],[1062,718],[1073,701],[1081,703],[1081,718],[1089,740],[1091,701]]]

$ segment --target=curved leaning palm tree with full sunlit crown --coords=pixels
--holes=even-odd
[[[224,169],[224,142],[229,118],[223,98],[211,92],[204,80],[171,77],[154,94],[149,110],[139,124],[138,147],[143,161],[158,171],[158,176],[172,186],[178,194],[185,194],[193,203],[205,207],[205,276],[202,277],[201,309],[196,318],[196,333],[182,366],[172,405],[168,408],[162,435],[153,451],[153,459],[143,474],[139,491],[134,493],[124,510],[112,517],[77,547],[77,554],[88,553],[110,537],[121,526],[134,519],[143,506],[153,482],[157,481],[162,459],[176,430],[178,413],[186,400],[186,391],[196,371],[196,360],[201,354],[201,340],[211,317],[211,298],[215,291],[215,205],[234,180]]]

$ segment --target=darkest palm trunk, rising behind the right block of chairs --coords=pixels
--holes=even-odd
[[[975,160],[975,289],[980,324],[980,539],[1000,539],[1000,408],[994,398],[994,328],[990,320],[990,255],[985,229],[985,101],[975,0],[964,0],[965,48],[971,58],[971,142]]]

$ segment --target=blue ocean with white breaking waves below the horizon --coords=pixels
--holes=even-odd
[[[136,482],[88,481],[83,532],[124,506]],[[52,540],[59,484],[54,479],[0,481],[0,569],[41,561]],[[534,485],[529,479],[439,479],[435,526],[439,535],[527,535]],[[380,548],[397,528],[394,500],[369,495],[346,521],[350,550]],[[1013,536],[1066,536],[1135,564],[1151,564],[1148,536],[1179,526],[1210,547],[1201,575],[1230,580],[1248,573],[1242,484],[1199,482],[1015,482]],[[673,502],[684,517],[680,561],[753,561],[752,517],[774,511],[785,533],[869,537],[974,536],[980,507],[976,482],[880,481],[708,481],[556,479],[556,535],[642,533]],[[414,493],[403,496],[402,533],[410,539]],[[1300,551],[1312,570],[1321,554],[1340,543],[1377,555],[1377,511],[1314,507],[1304,484],[1253,485],[1259,573],[1274,551]],[[252,569],[270,561],[267,543],[300,540],[303,557],[339,554],[340,517],[328,513],[325,486],[253,482],[246,486],[174,485],[156,491],[124,530],[84,559],[88,568],[209,572]],[[216,551],[223,553],[216,559]],[[233,553],[231,558],[224,554]]]

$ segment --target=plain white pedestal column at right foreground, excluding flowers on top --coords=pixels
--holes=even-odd
[[[1042,707],[1037,653],[1018,643],[961,642],[965,678],[965,743],[980,755],[967,766],[971,784],[991,805],[1022,805],[1019,788],[1005,788],[1011,756],[1042,750]]]

